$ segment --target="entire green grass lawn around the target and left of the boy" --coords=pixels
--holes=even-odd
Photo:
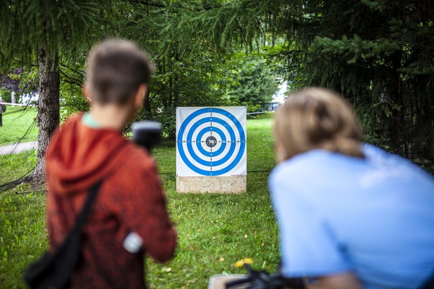
[[[178,248],[166,264],[148,259],[150,288],[206,288],[213,274],[245,273],[234,267],[244,257],[253,258],[256,268],[276,269],[278,228],[267,189],[268,171],[275,165],[271,125],[271,114],[247,122],[247,194],[178,194],[174,141],[153,151],[178,231]],[[33,152],[0,156],[0,184],[24,175],[35,163]],[[24,287],[23,269],[48,246],[43,191],[21,185],[0,193],[0,244],[0,288]]]

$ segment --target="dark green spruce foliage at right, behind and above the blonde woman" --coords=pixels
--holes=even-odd
[[[293,87],[319,85],[357,109],[366,140],[434,164],[430,1],[279,2],[280,55]]]

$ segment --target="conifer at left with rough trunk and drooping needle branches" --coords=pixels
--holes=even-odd
[[[87,51],[108,1],[0,0],[0,68],[39,67],[38,161],[29,177],[44,181],[44,154],[59,125],[59,58]],[[99,28],[99,27],[98,27]],[[85,52],[84,52],[85,53]]]

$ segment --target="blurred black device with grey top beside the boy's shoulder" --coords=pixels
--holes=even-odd
[[[132,141],[145,147],[149,152],[161,141],[161,123],[153,121],[132,124]]]

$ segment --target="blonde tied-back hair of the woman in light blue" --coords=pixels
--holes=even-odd
[[[364,158],[362,130],[354,109],[338,93],[327,89],[305,88],[290,93],[276,113],[274,136],[281,160],[313,149]]]

